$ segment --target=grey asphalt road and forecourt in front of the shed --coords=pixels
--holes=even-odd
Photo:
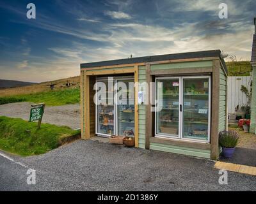
[[[256,190],[256,177],[233,172],[220,185],[213,166],[207,159],[77,140],[40,156],[0,152],[0,191]],[[35,185],[26,182],[29,168]]]

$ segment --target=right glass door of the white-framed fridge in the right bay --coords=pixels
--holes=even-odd
[[[209,141],[209,83],[209,77],[183,78],[183,138]]]

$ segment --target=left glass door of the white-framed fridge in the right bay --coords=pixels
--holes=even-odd
[[[179,138],[180,78],[157,78],[156,135]]]

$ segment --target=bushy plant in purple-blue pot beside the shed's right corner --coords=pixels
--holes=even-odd
[[[219,134],[219,143],[222,147],[223,156],[230,158],[233,156],[239,135],[236,131],[221,131]]]

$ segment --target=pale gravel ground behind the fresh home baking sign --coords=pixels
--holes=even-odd
[[[0,115],[29,120],[30,108],[33,103],[20,102],[0,105]],[[80,106],[45,106],[42,122],[57,126],[68,126],[72,129],[80,128]]]

